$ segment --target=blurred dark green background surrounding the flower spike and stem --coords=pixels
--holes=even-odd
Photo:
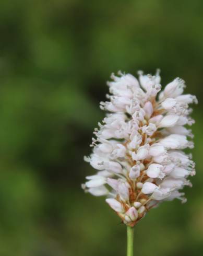
[[[125,226],[83,193],[83,162],[111,72],[177,76],[197,95],[197,174],[188,202],[163,203],[135,230],[135,255],[202,255],[203,2],[1,0],[0,255],[121,256]]]

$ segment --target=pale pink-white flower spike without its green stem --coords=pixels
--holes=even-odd
[[[197,103],[196,97],[182,95],[180,78],[160,92],[159,71],[138,75],[139,82],[130,74],[112,74],[109,101],[100,106],[109,113],[95,129],[93,153],[85,157],[97,174],[82,184],[92,195],[108,195],[106,202],[130,226],[162,201],[186,202],[180,190],[195,174],[192,156],[182,149],[194,146],[184,125],[194,123],[188,104]]]

